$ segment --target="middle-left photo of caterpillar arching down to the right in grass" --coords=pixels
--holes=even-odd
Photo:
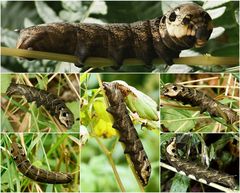
[[[1,74],[2,132],[79,132],[79,74]]]

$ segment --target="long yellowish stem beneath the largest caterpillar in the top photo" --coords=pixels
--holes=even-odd
[[[1,47],[1,55],[3,56],[16,56],[22,58],[35,58],[35,59],[48,59],[48,60],[57,60],[70,63],[78,63],[80,59],[77,56],[67,55],[67,54],[58,54],[51,52],[42,52],[34,50],[23,50],[17,48],[7,48]],[[162,59],[154,59],[153,64],[164,64],[165,62]],[[194,57],[182,57],[174,59],[175,64],[188,64],[192,66],[214,66],[214,65],[226,65],[232,66],[238,64],[238,57],[214,57],[214,56],[194,56]],[[94,64],[94,65],[93,65]],[[115,65],[115,62],[107,58],[98,58],[98,57],[89,57],[85,62],[85,67],[108,67]],[[129,58],[124,60],[123,65],[128,66],[139,66],[145,65],[143,61]]]

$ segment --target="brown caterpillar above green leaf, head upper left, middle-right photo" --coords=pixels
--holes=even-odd
[[[162,95],[181,101],[183,104],[190,104],[193,107],[199,106],[200,113],[207,111],[213,117],[226,119],[227,123],[232,124],[239,121],[239,115],[231,108],[196,89],[170,83],[163,87]]]

